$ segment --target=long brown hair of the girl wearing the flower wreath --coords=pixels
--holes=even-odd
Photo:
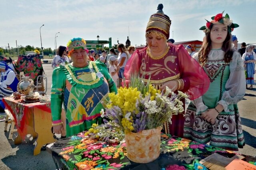
[[[210,37],[210,32],[212,30],[212,26],[213,24],[211,24],[210,29],[207,29],[205,32],[205,36],[206,36],[206,40],[202,45],[201,50],[199,51],[199,55],[198,55],[198,60],[199,63],[204,66],[207,62],[208,59],[208,54],[211,50],[211,46],[212,46],[212,40]],[[232,35],[228,32],[226,39],[223,42],[222,45],[222,50],[224,51],[224,61],[226,63],[230,63],[230,61],[232,60],[232,55],[234,53],[234,50],[231,48],[231,38]]]

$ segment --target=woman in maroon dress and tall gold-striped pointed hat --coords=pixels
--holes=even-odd
[[[207,91],[209,78],[182,45],[176,46],[166,42],[170,35],[171,20],[162,11],[163,5],[159,4],[158,7],[156,14],[150,16],[146,27],[148,46],[140,51],[136,50],[126,63],[126,84],[131,74],[139,72],[141,77],[144,76],[145,83],[150,80],[157,89],[165,90],[168,86],[174,92],[180,90],[186,93],[190,100],[194,100]],[[184,115],[172,116],[172,122],[164,124],[164,128],[166,133],[182,137]]]

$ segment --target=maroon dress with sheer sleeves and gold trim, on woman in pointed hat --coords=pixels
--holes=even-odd
[[[126,81],[130,80],[130,75],[134,72],[140,72],[141,77],[144,74],[144,82],[150,78],[156,88],[170,80],[182,79],[184,88],[180,91],[187,94],[190,100],[198,98],[208,90],[210,80],[207,74],[182,45],[168,43],[168,46],[168,53],[159,59],[151,58],[147,54],[148,47],[134,52],[124,69]],[[182,102],[185,107],[185,100]],[[164,128],[168,134],[183,137],[183,114],[174,115],[172,124],[167,123]]]

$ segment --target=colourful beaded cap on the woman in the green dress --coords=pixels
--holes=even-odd
[[[72,40],[69,40],[68,44],[67,44],[67,49],[68,49],[68,56],[70,56],[70,54],[77,49],[84,49],[86,50],[87,54],[89,52],[89,50],[87,50],[86,46],[86,41],[83,38],[73,38]]]

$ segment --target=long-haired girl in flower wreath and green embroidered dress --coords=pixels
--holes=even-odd
[[[206,39],[194,58],[210,79],[208,91],[192,100],[185,114],[184,137],[219,148],[238,150],[244,146],[237,103],[245,94],[244,64],[231,47],[231,32],[238,27],[228,14],[207,21]]]

